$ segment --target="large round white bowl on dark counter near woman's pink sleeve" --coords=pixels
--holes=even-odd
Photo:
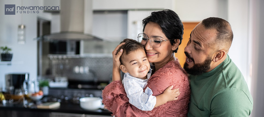
[[[84,97],[80,99],[80,106],[84,110],[97,110],[102,107],[102,99],[96,97]]]

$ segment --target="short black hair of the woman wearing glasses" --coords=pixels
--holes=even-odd
[[[157,23],[161,27],[162,32],[165,34],[165,36],[168,39],[180,39],[180,44],[181,44],[182,35],[183,35],[183,24],[179,16],[174,11],[170,9],[164,9],[162,11],[152,12],[150,16],[142,20],[143,32],[145,26],[149,22]],[[171,45],[176,43],[175,40],[169,40],[169,41],[171,42]],[[177,52],[177,50],[178,47],[173,52]]]

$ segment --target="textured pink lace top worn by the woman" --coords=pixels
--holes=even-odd
[[[105,87],[102,92],[103,104],[113,112],[115,117],[150,116],[150,117],[170,117],[187,116],[188,103],[190,99],[190,86],[187,73],[182,69],[178,61],[170,61],[161,69],[157,70],[148,81],[146,87],[157,96],[163,93],[167,87],[173,85],[173,89],[179,88],[181,91],[178,100],[169,101],[152,111],[142,111],[128,102],[126,92],[121,81],[113,81]],[[144,88],[144,90],[146,89]]]

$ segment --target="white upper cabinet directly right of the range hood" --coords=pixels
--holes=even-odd
[[[93,12],[92,34],[105,40],[123,40],[127,37],[127,18],[127,11]]]

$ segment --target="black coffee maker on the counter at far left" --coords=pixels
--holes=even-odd
[[[6,88],[4,96],[6,99],[19,100],[27,95],[29,85],[29,73],[10,73],[5,75]]]

